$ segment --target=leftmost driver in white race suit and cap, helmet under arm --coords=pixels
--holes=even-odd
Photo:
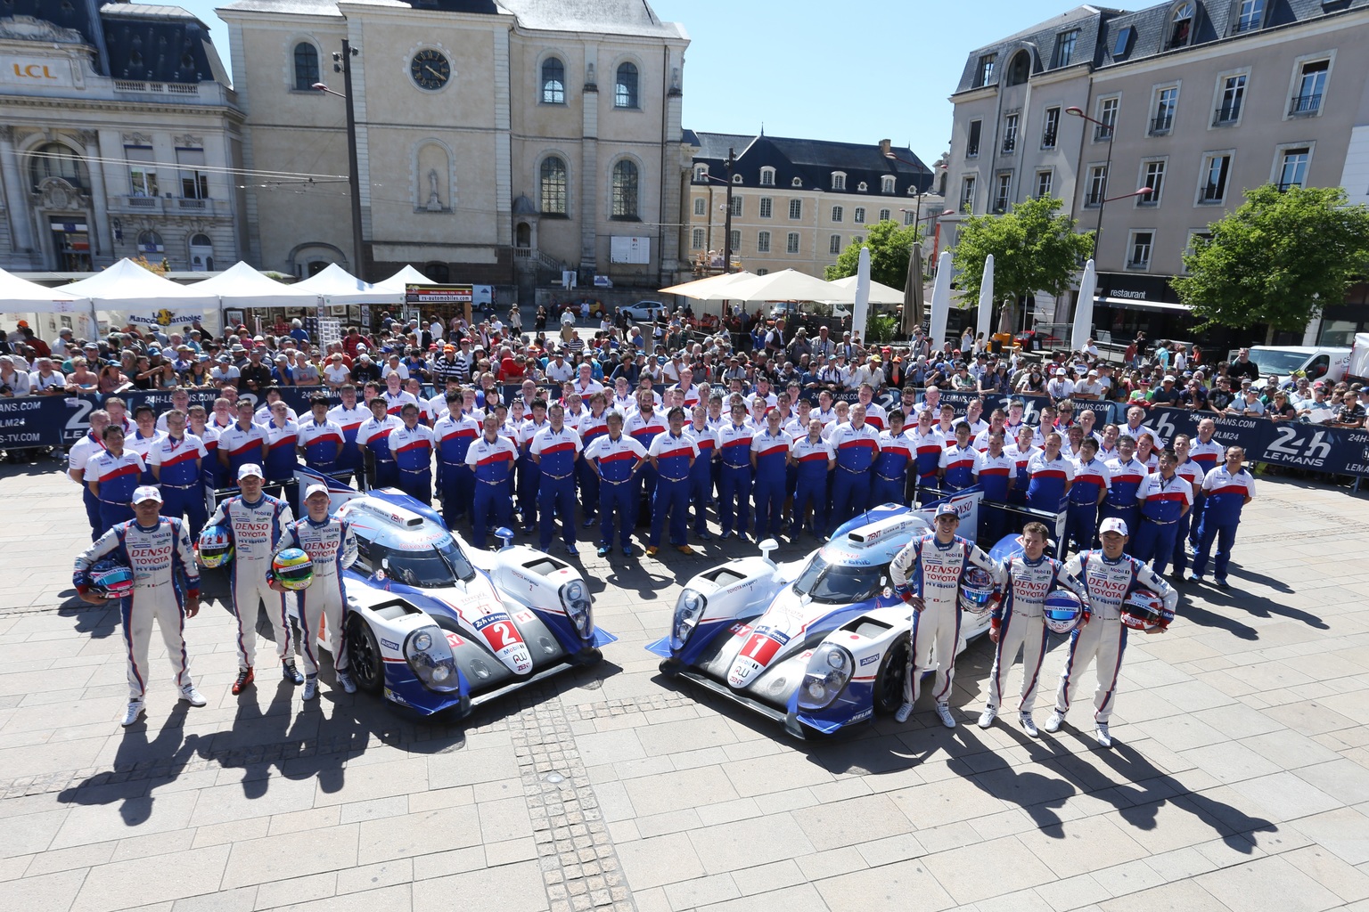
[[[123,436],[123,428],[110,429]],[[142,715],[153,618],[162,628],[162,641],[166,643],[181,699],[190,706],[205,704],[190,680],[190,660],[185,652],[185,618],[200,613],[200,572],[194,566],[190,536],[181,520],[160,515],[162,494],[156,488],[142,485],[129,499],[136,517],[101,535],[77,558],[71,574],[77,595],[84,602],[104,604],[107,599],[90,588],[90,567],[110,556],[133,570],[133,595],[119,602],[129,658],[125,727]]]

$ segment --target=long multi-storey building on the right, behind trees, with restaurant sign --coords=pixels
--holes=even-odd
[[[1366,46],[1369,0],[1077,7],[969,55],[951,96],[953,205],[1062,198],[1082,230],[1102,228],[1097,328],[1187,338],[1169,279],[1243,190],[1369,194]],[[1064,321],[1071,305],[1038,299],[1036,316]],[[1338,304],[1307,336],[1339,343],[1365,325],[1362,305]]]

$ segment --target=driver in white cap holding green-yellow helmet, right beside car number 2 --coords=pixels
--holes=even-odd
[[[356,684],[348,674],[346,654],[346,595],[342,591],[342,570],[356,561],[356,536],[346,520],[329,515],[329,488],[324,484],[311,484],[304,489],[304,509],[308,515],[286,522],[281,532],[277,551],[303,548],[314,563],[314,582],[300,593],[300,645],[304,647],[304,699],[319,695],[319,660],[314,655],[318,648],[314,632],[320,619],[326,619],[329,651],[333,654],[333,667],[337,671],[338,686],[346,693],[356,693]],[[285,588],[274,578],[271,588],[285,595]]]

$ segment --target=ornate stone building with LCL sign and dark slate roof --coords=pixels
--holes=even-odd
[[[144,254],[211,271],[241,256],[244,115],[192,14],[7,0],[0,107],[0,267]]]

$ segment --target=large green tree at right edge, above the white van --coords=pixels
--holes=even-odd
[[[1369,209],[1340,187],[1266,183],[1207,226],[1184,253],[1187,275],[1170,280],[1202,323],[1301,332],[1322,305],[1339,304],[1369,275]]]

